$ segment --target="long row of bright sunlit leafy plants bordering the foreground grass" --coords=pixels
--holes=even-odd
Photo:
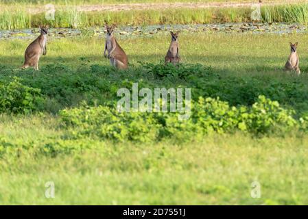
[[[259,96],[252,107],[230,107],[219,99],[200,97],[192,116],[179,120],[175,113],[119,113],[115,107],[80,107],[62,110],[60,116],[73,137],[97,136],[107,140],[151,142],[162,138],[198,140],[207,133],[270,133],[297,128],[302,122],[276,101]],[[282,129],[283,128],[283,129]]]

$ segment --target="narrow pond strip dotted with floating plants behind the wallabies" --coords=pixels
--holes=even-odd
[[[150,26],[125,26],[118,27],[116,32],[121,38],[151,36],[170,30],[182,32],[204,32],[225,34],[294,34],[308,33],[307,25],[286,23],[223,23],[206,25],[150,25]],[[27,39],[34,38],[39,29],[0,30],[0,39]],[[90,27],[82,29],[52,28],[49,36],[54,38],[71,38],[75,36],[104,37],[104,27]]]

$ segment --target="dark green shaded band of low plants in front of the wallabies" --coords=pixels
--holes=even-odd
[[[37,110],[54,114],[82,103],[113,106],[119,99],[117,90],[132,90],[134,82],[139,83],[139,89],[191,88],[195,103],[200,96],[204,99],[216,99],[219,96],[221,101],[228,102],[230,106],[251,107],[258,101],[259,95],[264,95],[272,101],[278,101],[286,109],[295,110],[296,118],[307,116],[308,111],[305,77],[280,79],[272,75],[224,75],[215,68],[201,64],[180,64],[175,67],[141,63],[128,70],[118,71],[110,66],[88,64],[84,60],[77,68],[70,68],[64,62],[47,64],[42,66],[40,73],[32,69],[13,70],[3,66],[0,68],[0,80],[4,81],[5,86],[18,83],[23,89],[30,89],[27,92],[35,91],[35,95],[39,92],[45,101],[43,107],[37,107]],[[32,110],[36,105],[41,104],[34,104]]]

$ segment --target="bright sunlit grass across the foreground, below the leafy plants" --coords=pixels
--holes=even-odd
[[[49,157],[39,148],[59,137],[55,118],[1,118],[1,136],[29,143],[0,160],[1,204],[300,205],[307,203],[307,136],[255,139],[208,136],[189,144],[71,141],[82,152]],[[18,129],[18,131],[16,131]],[[32,129],[31,131],[29,129]],[[68,142],[68,141],[67,141]],[[54,181],[54,199],[45,183]],[[261,198],[251,198],[251,183]]]

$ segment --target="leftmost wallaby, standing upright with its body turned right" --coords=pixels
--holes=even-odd
[[[36,38],[29,47],[25,50],[25,62],[21,68],[28,68],[33,66],[35,70],[38,70],[38,61],[40,60],[40,55],[46,55],[47,53],[47,33],[48,26],[40,26],[40,36]]]

